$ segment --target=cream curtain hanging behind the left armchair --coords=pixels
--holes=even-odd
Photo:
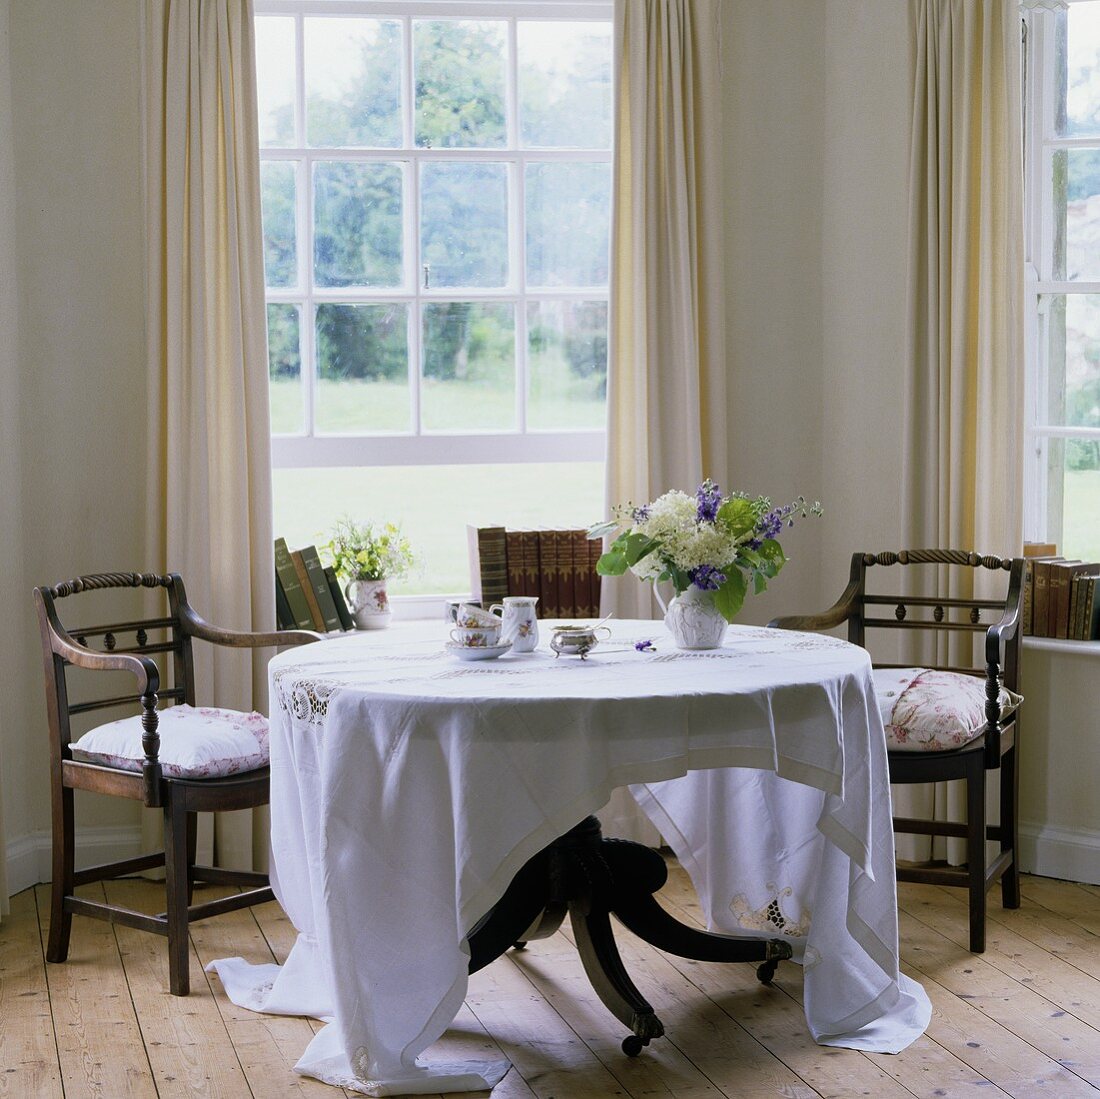
[[[191,604],[210,620],[270,629],[253,33],[251,0],[145,4],[148,560],[179,572]],[[265,710],[270,656],[197,646],[199,702]],[[220,865],[266,866],[266,811],[255,816],[223,814],[215,822]]]

